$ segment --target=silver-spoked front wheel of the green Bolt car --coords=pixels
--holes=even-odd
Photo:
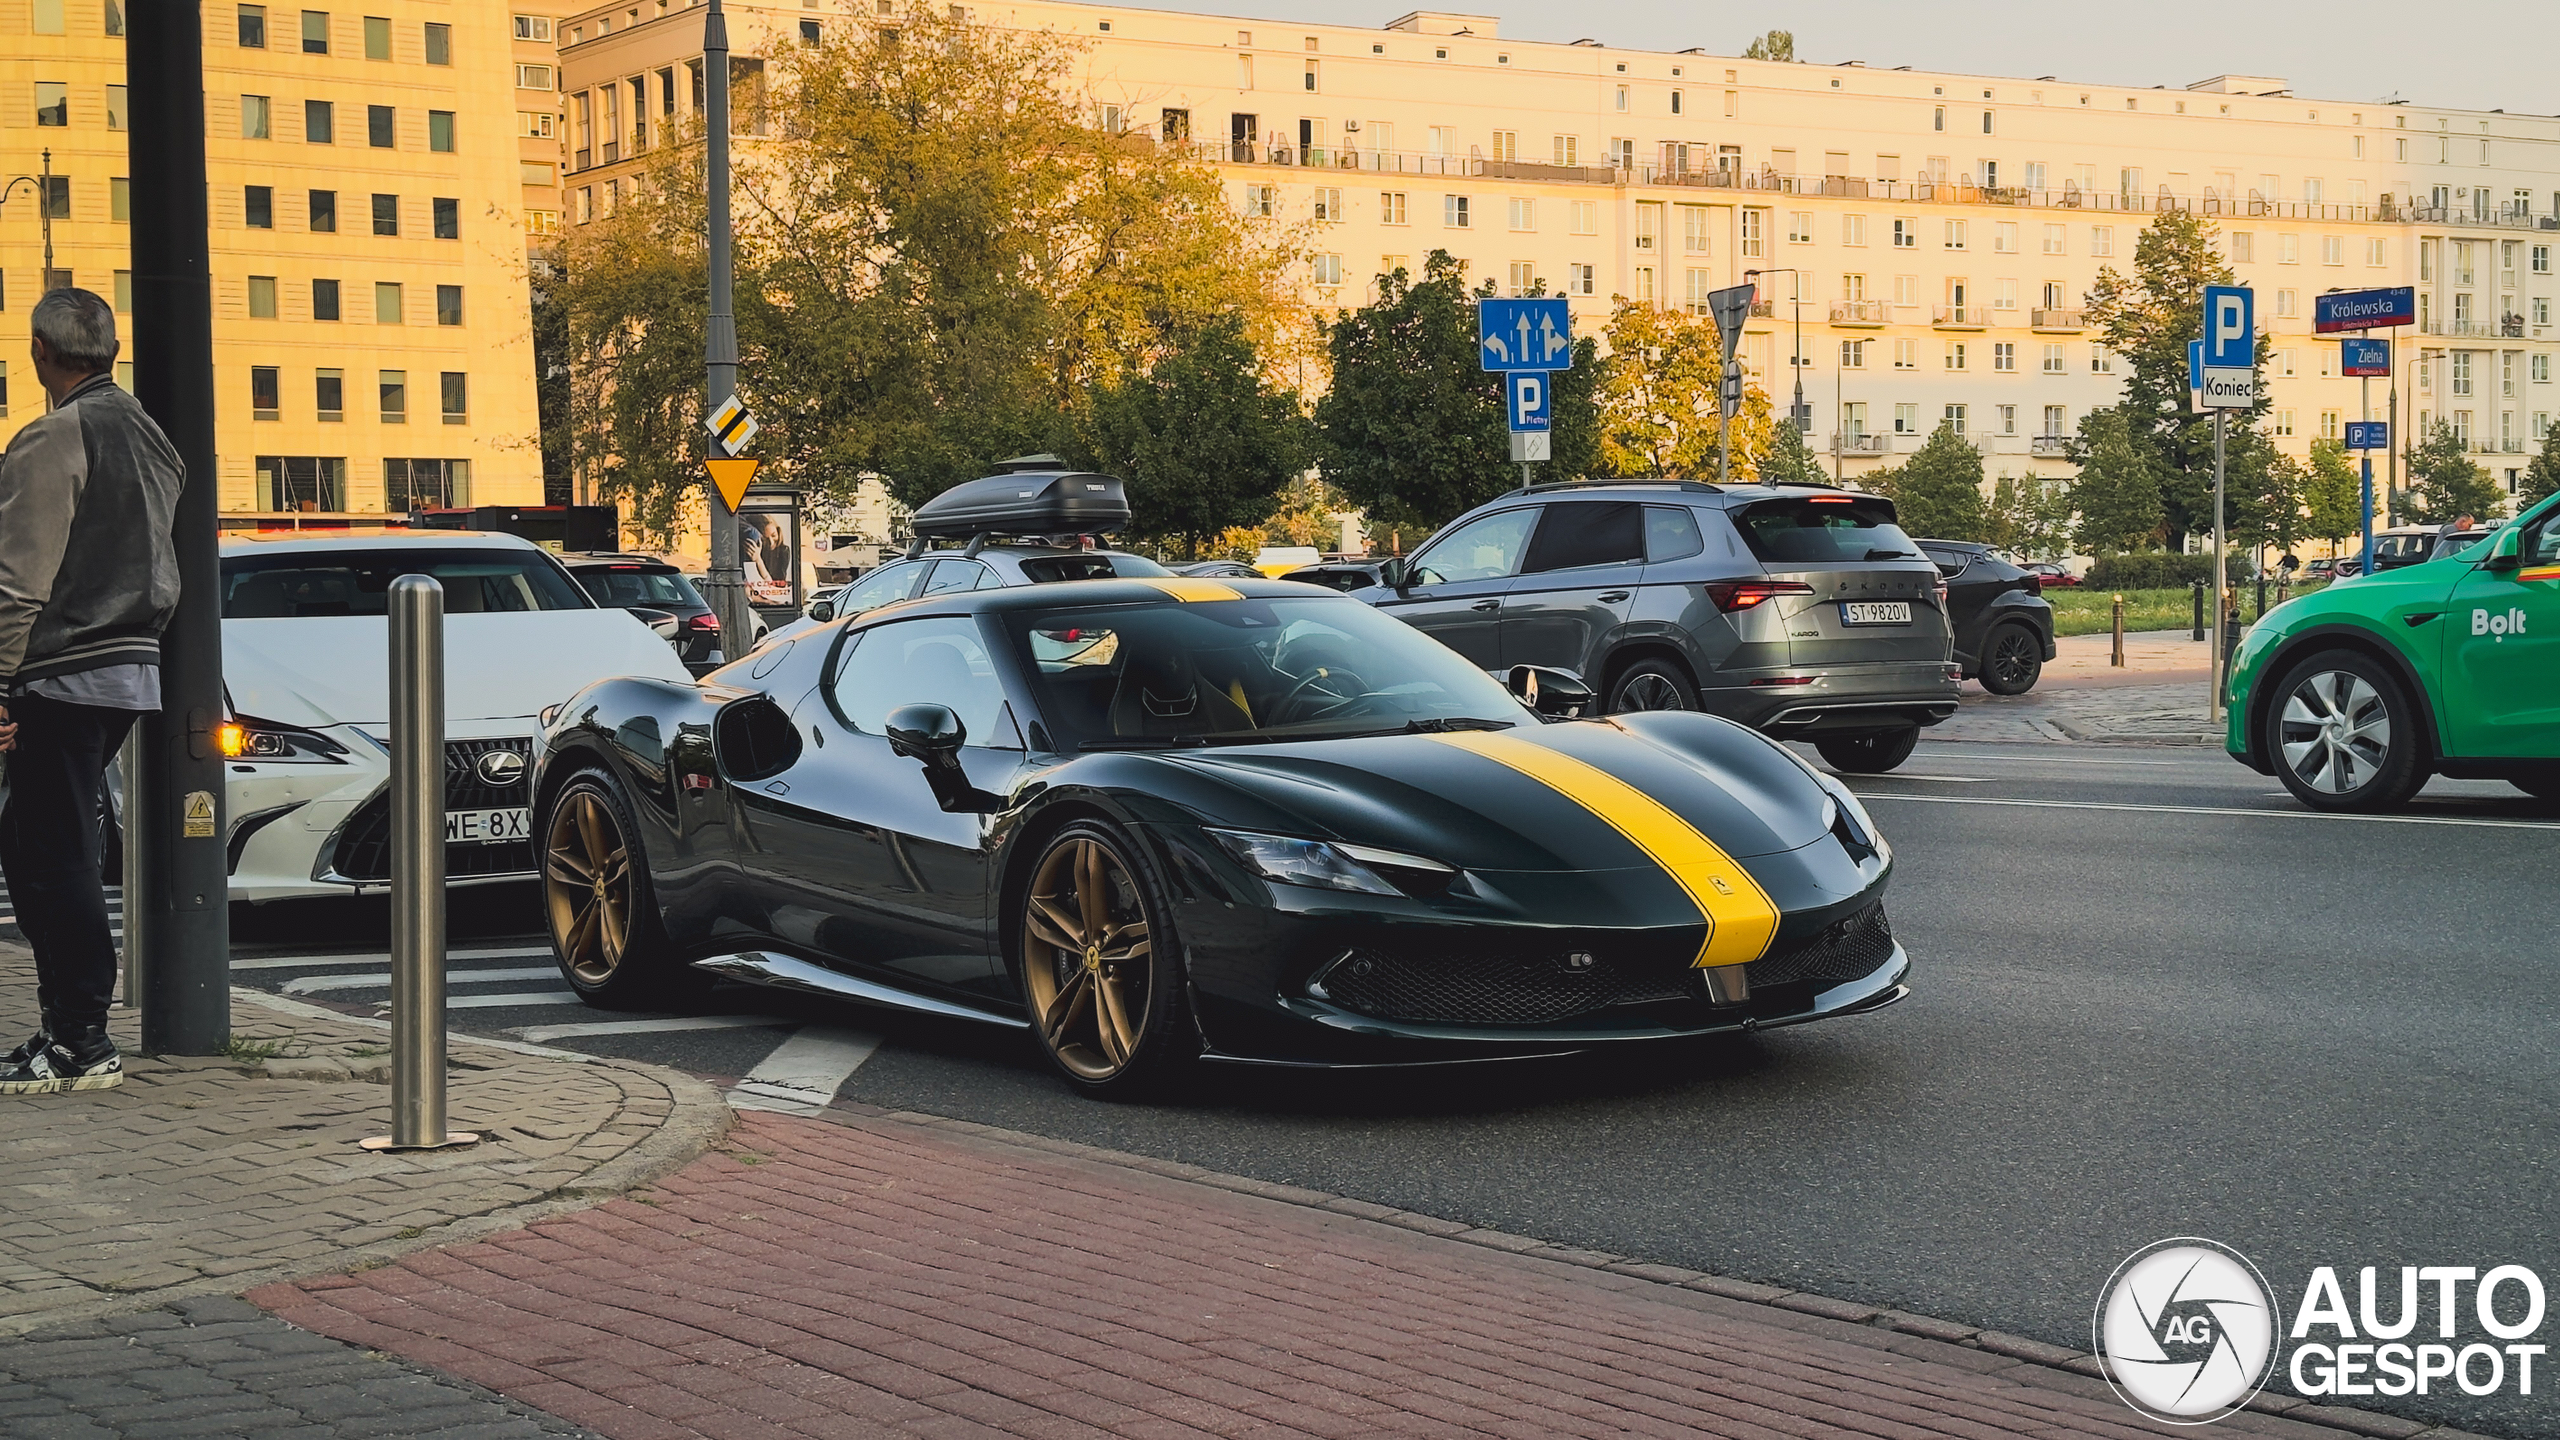
[[[2363,651],[2322,651],[2276,682],[2266,756],[2312,810],[2399,810],[2427,784],[2417,705],[2391,666]]]

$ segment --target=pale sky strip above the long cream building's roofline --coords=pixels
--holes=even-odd
[[[1408,0],[1144,0],[1267,20],[1385,26]],[[2260,0],[2140,5],[2138,26],[2089,0],[1441,0],[1503,20],[1523,41],[1597,38],[1613,46],[1741,54],[1761,31],[1795,31],[1797,59],[1864,59],[1876,69],[2056,74],[2086,85],[2166,85],[2209,74],[2276,74],[2317,100],[2406,100],[2465,110],[2560,113],[2560,8],[2550,0],[2460,0],[2445,10],[2399,0]],[[2442,15],[2442,23],[2437,23]],[[2207,23],[2209,18],[2209,23]]]

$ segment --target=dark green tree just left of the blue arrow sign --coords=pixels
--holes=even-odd
[[[1518,484],[1503,377],[1477,364],[1475,305],[1449,251],[1377,277],[1377,302],[1324,325],[1324,477],[1370,525],[1428,533]]]

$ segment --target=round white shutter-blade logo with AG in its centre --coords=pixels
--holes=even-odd
[[[2204,1425],[2248,1404],[2276,1361],[2276,1302],[2240,1250],[2181,1235],[2135,1250],[2099,1291],[2097,1353],[2132,1409]]]

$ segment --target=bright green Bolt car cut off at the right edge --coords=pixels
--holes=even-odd
[[[2240,764],[2314,810],[2394,810],[2429,774],[2560,799],[2560,497],[2437,553],[2250,628],[2225,740]]]

